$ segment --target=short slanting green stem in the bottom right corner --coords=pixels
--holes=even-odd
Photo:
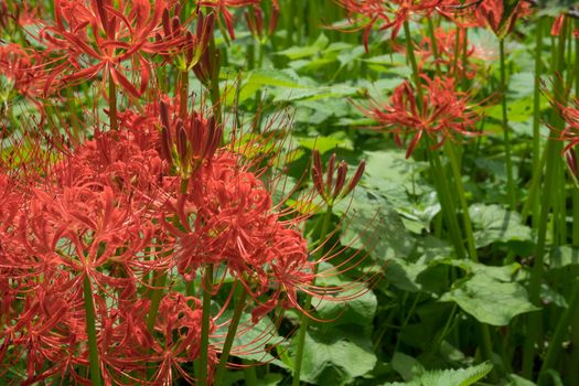
[[[575,279],[573,288],[571,292],[571,298],[569,299],[569,305],[565,309],[557,326],[555,328],[555,333],[549,342],[549,349],[540,366],[540,372],[538,376],[538,386],[547,385],[546,372],[551,369],[555,366],[559,352],[561,351],[562,340],[567,336],[568,328],[571,322],[571,317],[579,307],[579,278]]]

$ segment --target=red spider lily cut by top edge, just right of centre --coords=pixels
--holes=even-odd
[[[374,24],[379,24],[380,31],[392,30],[392,37],[395,39],[403,24],[412,15],[428,17],[442,2],[443,0],[339,0],[351,18],[358,15],[365,19],[365,21],[360,21],[365,25],[364,46],[366,51],[368,51],[369,33]]]

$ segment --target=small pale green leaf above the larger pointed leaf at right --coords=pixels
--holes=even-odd
[[[469,208],[478,248],[493,243],[530,242],[532,230],[523,225],[521,215],[500,205],[474,204]]]

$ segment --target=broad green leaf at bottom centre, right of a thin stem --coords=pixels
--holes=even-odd
[[[314,385],[345,385],[371,372],[376,361],[369,344],[336,333],[308,333],[301,379]]]

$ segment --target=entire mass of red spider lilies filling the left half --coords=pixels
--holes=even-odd
[[[251,317],[237,334],[264,321],[275,329],[271,320],[287,309],[310,315],[300,293],[340,300],[343,288],[314,285],[326,275],[320,262],[339,251],[312,250],[303,229],[314,213],[274,201],[275,172],[244,153],[251,144],[237,143],[244,133],[223,124],[221,100],[191,109],[186,82],[172,96],[157,88],[160,65],[179,76],[192,71],[205,87],[218,81],[211,42],[222,19],[234,37],[229,7],[250,8],[257,37],[272,32],[276,1],[266,32],[257,0],[199,1],[185,17],[170,0],[55,0],[54,20],[35,21],[34,45],[0,47],[10,89],[41,112],[47,96],[101,81],[109,85],[105,112],[116,122],[107,131],[92,115],[85,140],[44,135],[71,130],[34,127],[33,118],[20,140],[6,130],[0,378],[18,367],[23,385],[89,384],[97,375],[106,385],[208,384],[232,350],[217,330],[234,324],[223,321],[238,307],[234,292],[247,297],[240,310]],[[116,86],[127,96],[118,110]],[[276,146],[268,147],[275,158]],[[340,164],[322,200],[347,195],[363,169],[344,187]],[[291,194],[309,207],[315,189],[299,189]],[[331,275],[347,269],[342,261]],[[206,368],[194,372],[194,362]]]

